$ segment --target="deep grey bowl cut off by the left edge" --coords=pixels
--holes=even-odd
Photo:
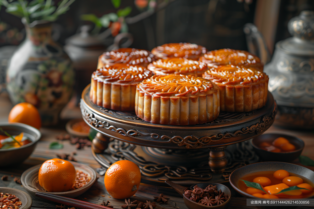
[[[24,132],[24,136],[27,136],[32,141],[19,148],[0,149],[0,158],[10,159],[1,160],[0,167],[22,163],[32,154],[38,140],[41,138],[41,133],[38,129],[23,123],[0,123],[0,127],[11,135],[18,135]],[[4,133],[1,134],[3,135]]]

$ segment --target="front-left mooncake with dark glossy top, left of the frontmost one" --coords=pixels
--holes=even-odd
[[[124,63],[93,72],[90,99],[96,105],[120,111],[134,111],[136,85],[153,73],[142,66]]]

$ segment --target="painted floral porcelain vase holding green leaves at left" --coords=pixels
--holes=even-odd
[[[7,69],[7,90],[12,103],[29,102],[38,108],[42,125],[58,123],[72,96],[74,69],[62,47],[51,39],[51,23],[25,25],[27,37]]]

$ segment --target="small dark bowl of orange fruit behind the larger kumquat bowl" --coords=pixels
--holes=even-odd
[[[288,141],[295,145],[295,150],[291,152],[269,152],[258,147],[264,141],[273,141],[278,137],[284,137]],[[304,142],[300,138],[295,136],[279,134],[279,133],[267,133],[259,135],[250,140],[250,143],[253,147],[254,152],[263,160],[263,161],[279,161],[279,162],[291,162],[297,159],[303,151]]]

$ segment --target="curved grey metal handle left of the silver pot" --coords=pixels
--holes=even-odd
[[[257,55],[261,62],[265,65],[271,60],[263,35],[258,31],[257,27],[252,23],[244,25],[243,31],[246,35],[246,44],[249,52]]]

